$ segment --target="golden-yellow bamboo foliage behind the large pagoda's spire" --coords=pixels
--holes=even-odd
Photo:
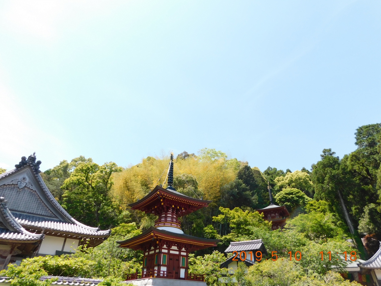
[[[169,157],[147,157],[142,162],[114,174],[113,194],[123,203],[131,203],[163,183],[168,170]],[[199,156],[174,160],[174,176],[191,174],[199,183],[204,199],[216,201],[221,186],[233,181],[241,165],[237,159],[227,159],[225,153],[215,149],[202,149]],[[159,181],[159,178],[161,179]]]

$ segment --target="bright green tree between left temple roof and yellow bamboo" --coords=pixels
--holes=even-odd
[[[62,206],[87,225],[114,226],[122,209],[110,196],[111,175],[121,170],[114,162],[101,166],[92,161],[79,163],[62,185]]]

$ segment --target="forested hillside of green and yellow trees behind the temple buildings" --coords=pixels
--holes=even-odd
[[[184,232],[221,239],[215,249],[192,254],[190,271],[205,273],[208,269],[208,284],[218,284],[218,265],[226,258],[221,253],[226,246],[231,241],[262,238],[270,253],[278,251],[283,257],[288,251],[303,253],[304,259],[300,262],[278,265],[281,272],[278,275],[290,275],[294,271],[301,275],[295,279],[315,279],[315,284],[326,281],[322,278],[324,275],[333,275],[329,283],[347,283],[329,272],[333,265],[343,266],[341,259],[322,262],[316,254],[356,249],[359,257],[367,259],[378,249],[381,239],[381,124],[359,127],[355,132],[355,145],[357,149],[343,158],[331,149],[323,149],[320,161],[312,164],[311,169],[301,166],[300,170],[293,171],[276,167],[259,170],[255,162],[229,158],[215,149],[178,154],[174,160],[176,191],[213,201],[207,208],[181,218]],[[65,260],[97,265],[85,274],[72,275],[120,278],[126,273],[140,271],[141,253],[119,249],[112,256],[112,245],[115,240],[132,237],[154,224],[155,216],[131,210],[127,204],[142,198],[156,185],[166,187],[168,162],[169,154],[146,157],[139,164],[124,169],[113,162],[99,165],[91,158],[80,156],[64,160],[42,173],[56,199],[75,219],[94,227],[112,228],[112,236],[101,246],[83,247],[71,260]],[[291,214],[282,231],[271,231],[270,223],[255,211],[269,204],[268,182],[277,204],[285,205]],[[112,270],[106,273],[104,267],[107,268],[111,256]],[[35,260],[48,265],[46,258]],[[261,284],[263,281],[259,283],[258,273],[265,275],[271,268],[267,264],[260,263],[248,274],[237,272],[241,275],[237,280],[247,285]],[[48,266],[43,268],[49,274],[56,273]],[[81,271],[85,268],[83,266]],[[274,275],[271,279],[275,279]]]

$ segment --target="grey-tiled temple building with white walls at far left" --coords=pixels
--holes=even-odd
[[[0,175],[0,268],[35,255],[75,252],[110,236],[73,219],[54,199],[40,176],[35,154],[22,157],[16,169]]]

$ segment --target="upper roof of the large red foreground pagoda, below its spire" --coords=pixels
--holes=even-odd
[[[173,201],[182,202],[183,204],[189,204],[194,206],[197,209],[202,207],[207,207],[212,201],[195,199],[185,194],[179,193],[175,190],[165,189],[161,186],[155,186],[155,188],[150,191],[146,196],[144,196],[139,201],[133,202],[132,204],[128,204],[132,209],[144,210],[149,206],[158,206],[161,204],[162,194],[166,199],[172,199]],[[160,195],[160,198],[159,196]]]

